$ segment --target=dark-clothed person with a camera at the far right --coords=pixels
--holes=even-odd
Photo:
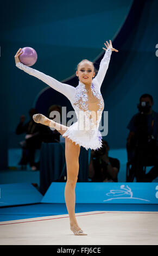
[[[135,177],[137,182],[150,182],[158,175],[158,113],[152,109],[153,104],[153,97],[150,94],[143,94],[137,105],[139,113],[131,118],[127,126],[130,130],[127,152],[131,162],[128,182],[132,182]],[[148,174],[144,174],[144,165],[154,167]]]

